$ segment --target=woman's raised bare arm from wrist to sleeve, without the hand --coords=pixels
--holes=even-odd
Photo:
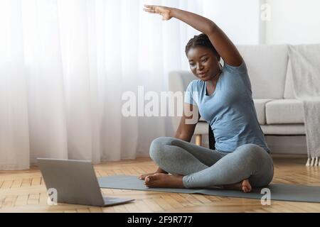
[[[208,18],[196,13],[171,8],[171,16],[208,35],[211,43],[223,61],[231,66],[240,66],[242,57],[227,35]]]

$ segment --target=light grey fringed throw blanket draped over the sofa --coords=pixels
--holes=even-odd
[[[289,45],[289,57],[294,93],[304,106],[306,165],[320,166],[320,44]]]

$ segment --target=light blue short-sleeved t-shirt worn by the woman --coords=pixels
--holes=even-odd
[[[215,149],[233,152],[240,145],[253,143],[270,149],[257,120],[247,66],[223,66],[215,92],[207,95],[206,82],[193,80],[188,85],[185,102],[198,106],[203,119],[210,123],[215,136]]]

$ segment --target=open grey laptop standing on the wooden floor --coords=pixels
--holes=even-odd
[[[37,160],[46,188],[56,192],[58,203],[112,206],[134,201],[134,199],[102,196],[90,161],[48,158]]]

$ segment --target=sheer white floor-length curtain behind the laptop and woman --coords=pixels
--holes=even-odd
[[[169,118],[122,116],[122,94],[167,89],[188,70],[198,34],[145,13],[159,4],[202,13],[202,1],[0,0],[0,170],[37,157],[133,159],[169,135]]]

